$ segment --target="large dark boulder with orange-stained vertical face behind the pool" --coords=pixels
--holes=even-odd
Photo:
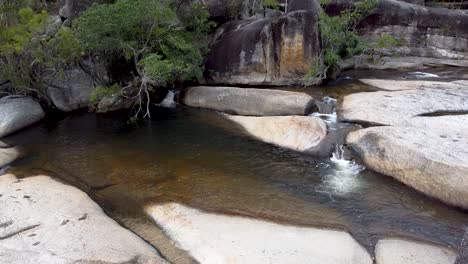
[[[318,5],[317,5],[318,6]],[[206,60],[212,84],[300,84],[319,63],[320,9],[225,23]]]

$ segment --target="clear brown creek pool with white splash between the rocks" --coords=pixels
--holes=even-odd
[[[350,87],[342,85],[313,93],[340,97],[339,87]],[[119,115],[76,113],[23,130],[6,139],[25,152],[12,172],[46,173],[81,188],[180,263],[190,261],[145,218],[144,205],[176,201],[217,213],[344,229],[369,250],[386,236],[454,249],[462,242],[468,213],[390,177],[369,170],[352,175],[329,159],[255,141],[215,112],[155,111],[140,127],[129,127]]]

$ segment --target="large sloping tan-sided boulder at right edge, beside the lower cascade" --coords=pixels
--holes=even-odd
[[[466,137],[414,127],[373,127],[351,132],[346,142],[367,167],[468,209]]]

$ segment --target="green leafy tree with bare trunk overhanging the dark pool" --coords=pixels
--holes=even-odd
[[[212,24],[199,4],[177,12],[169,0],[117,0],[94,5],[74,21],[87,52],[108,63],[124,57],[137,71],[139,109],[149,117],[152,89],[202,76]]]

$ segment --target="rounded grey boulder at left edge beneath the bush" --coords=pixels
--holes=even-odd
[[[0,137],[32,125],[45,113],[41,105],[30,97],[0,99]]]

